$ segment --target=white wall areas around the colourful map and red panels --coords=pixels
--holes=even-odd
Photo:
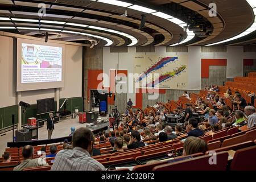
[[[103,72],[108,74],[110,69],[127,69],[128,73],[134,73],[133,56],[142,55],[137,53],[135,47],[128,47],[128,52],[110,52],[109,47],[104,47],[103,53]],[[188,47],[188,52],[166,52],[166,47],[156,47],[154,53],[156,55],[188,55],[188,90],[201,89],[201,59],[227,59],[226,78],[234,78],[243,76],[243,59],[255,59],[255,53],[243,52],[242,46],[230,46],[227,52],[201,52],[200,46]],[[108,86],[107,80],[104,85]],[[135,105],[135,94],[127,94],[127,99],[132,98]]]

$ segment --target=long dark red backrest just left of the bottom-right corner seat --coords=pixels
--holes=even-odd
[[[216,164],[210,164],[209,158],[212,156],[204,155],[193,159],[182,160],[179,162],[162,164],[153,168],[153,171],[225,171],[228,163],[228,152],[216,154]]]

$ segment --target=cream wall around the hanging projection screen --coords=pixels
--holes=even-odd
[[[0,36],[0,108],[18,104],[16,70],[13,68],[13,38]],[[65,86],[60,98],[82,96],[82,47],[65,45]],[[36,100],[55,97],[55,89],[21,92],[21,101],[36,104]]]

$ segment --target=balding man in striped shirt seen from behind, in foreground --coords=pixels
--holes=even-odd
[[[77,129],[72,137],[73,150],[61,150],[55,157],[51,171],[105,171],[105,167],[91,158],[94,136],[85,127]]]

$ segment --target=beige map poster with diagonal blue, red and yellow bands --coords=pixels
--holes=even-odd
[[[147,82],[141,88],[187,89],[187,55],[134,55],[134,67],[139,74],[136,82]]]

